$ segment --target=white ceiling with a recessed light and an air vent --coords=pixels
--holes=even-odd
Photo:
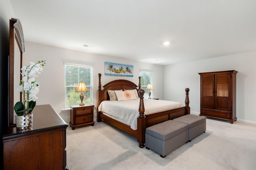
[[[34,43],[159,65],[256,51],[256,0],[10,2]]]

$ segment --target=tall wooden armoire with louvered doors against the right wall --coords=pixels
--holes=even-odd
[[[236,121],[236,70],[200,74],[200,116]]]

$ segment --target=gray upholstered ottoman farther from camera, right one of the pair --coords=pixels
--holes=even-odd
[[[189,125],[189,141],[206,131],[206,117],[189,114],[173,120]]]

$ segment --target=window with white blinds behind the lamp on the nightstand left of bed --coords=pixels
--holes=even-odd
[[[79,82],[83,81],[88,92],[84,92],[83,103],[92,104],[92,67],[65,64],[65,107],[81,103],[80,93],[76,92]]]

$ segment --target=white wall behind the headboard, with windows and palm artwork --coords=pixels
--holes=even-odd
[[[28,65],[30,61],[36,62],[46,60],[42,74],[36,78],[36,81],[40,83],[40,92],[37,95],[38,100],[36,101],[36,104],[50,104],[57,113],[60,113],[63,109],[65,109],[64,63],[93,66],[93,104],[95,106],[97,104],[98,73],[102,74],[101,84],[103,86],[107,82],[116,79],[126,79],[138,84],[138,76],[140,76],[140,71],[152,71],[154,76],[153,95],[155,98],[164,98],[162,84],[164,66],[139,63],[127,59],[72,51],[69,49],[62,49],[30,42],[25,42],[25,50],[23,65]],[[105,76],[104,62],[133,65],[134,77]]]

